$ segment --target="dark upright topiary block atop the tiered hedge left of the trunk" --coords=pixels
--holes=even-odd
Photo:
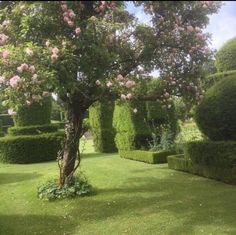
[[[51,97],[44,98],[42,103],[33,103],[22,106],[14,116],[15,126],[34,126],[50,124],[51,122]]]

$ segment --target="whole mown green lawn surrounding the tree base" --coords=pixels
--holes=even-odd
[[[37,186],[56,162],[0,164],[1,235],[236,234],[236,187],[117,154],[90,153],[81,169],[97,194],[57,202]]]

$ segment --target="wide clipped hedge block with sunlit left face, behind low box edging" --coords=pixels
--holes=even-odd
[[[135,108],[137,113],[133,112]],[[115,142],[119,150],[148,149],[151,130],[145,119],[145,102],[116,102],[113,126],[116,130]]]

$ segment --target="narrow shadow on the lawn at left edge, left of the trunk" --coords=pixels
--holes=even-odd
[[[0,185],[32,180],[40,176],[38,173],[0,173]]]

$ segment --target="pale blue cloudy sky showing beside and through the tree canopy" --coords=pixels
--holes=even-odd
[[[236,1],[224,1],[224,5],[218,13],[209,16],[209,24],[204,32],[211,34],[212,49],[220,49],[229,39],[236,37]],[[140,22],[147,23],[150,17],[146,15],[141,7],[135,7],[132,2],[126,3],[126,9],[134,14]],[[158,71],[153,71],[150,75],[158,77]]]

